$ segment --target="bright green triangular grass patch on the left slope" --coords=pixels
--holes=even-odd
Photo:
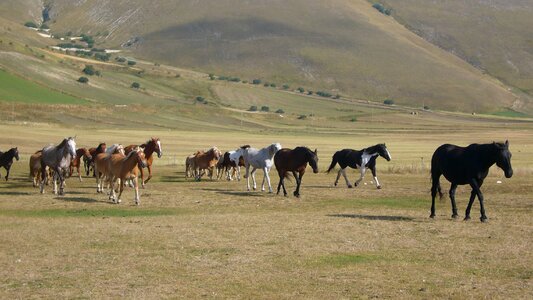
[[[41,104],[84,104],[85,100],[40,86],[0,70],[0,101]]]

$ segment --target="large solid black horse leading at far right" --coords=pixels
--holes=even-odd
[[[435,217],[435,196],[437,192],[442,198],[440,176],[444,175],[451,182],[450,200],[452,202],[452,218],[457,218],[457,206],[455,205],[455,189],[458,185],[469,184],[472,187],[470,202],[466,207],[465,220],[470,219],[470,209],[476,195],[481,206],[481,222],[487,220],[483,205],[481,185],[489,173],[489,168],[496,164],[500,167],[506,178],[513,176],[511,167],[511,151],[509,141],[505,143],[472,144],[468,147],[459,147],[444,144],[435,150],[431,158],[431,218]]]

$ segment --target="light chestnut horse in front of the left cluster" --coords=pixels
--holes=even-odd
[[[113,154],[109,158],[108,176],[111,179],[111,194],[109,199],[113,203],[120,203],[120,197],[124,191],[124,182],[131,180],[135,188],[135,204],[140,204],[138,177],[144,167],[147,166],[147,160],[142,147],[137,147],[130,151],[128,155]],[[118,197],[115,194],[115,183],[118,182],[120,192]]]

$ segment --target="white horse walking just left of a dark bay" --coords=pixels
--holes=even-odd
[[[265,147],[261,150],[255,148],[246,148],[242,150],[244,158],[244,167],[246,168],[246,187],[248,191],[250,190],[250,173],[252,175],[252,180],[254,182],[254,190],[257,189],[255,181],[255,171],[257,169],[263,169],[264,177],[263,183],[261,184],[261,190],[265,190],[265,179],[268,183],[268,192],[272,193],[272,186],[270,185],[270,177],[268,172],[274,165],[274,155],[281,149],[280,143],[274,143],[268,147]],[[250,172],[250,166],[252,167],[252,172]]]

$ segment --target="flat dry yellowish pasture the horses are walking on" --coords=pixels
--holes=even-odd
[[[3,124],[0,150],[18,146],[20,161],[10,181],[0,182],[0,296],[531,298],[532,126],[480,124],[454,131],[455,123],[442,130],[393,130],[383,123],[381,130],[298,135],[72,132]],[[69,178],[63,197],[41,195],[32,187],[29,156],[73,134],[78,147],[160,137],[165,155],[154,160],[154,177],[140,189],[141,206],[135,206],[128,187],[123,202],[112,204],[96,193],[93,178]],[[429,163],[436,147],[493,139],[509,139],[515,174],[506,179],[491,169],[482,188],[489,222],[453,220],[447,197],[437,202],[437,216],[430,219]],[[272,142],[318,148],[320,172],[305,177],[301,198],[247,192],[242,180],[184,177],[183,157],[196,149]],[[325,170],[335,151],[381,142],[392,156],[390,162],[377,160],[383,189],[375,188],[371,176],[353,189],[333,186],[336,172]],[[357,175],[348,171],[351,179]],[[277,176],[272,181],[276,185]],[[289,190],[295,183],[285,182]],[[447,190],[449,183],[442,186]],[[465,186],[457,189],[460,216],[469,192]],[[476,201],[473,216],[478,208]]]

